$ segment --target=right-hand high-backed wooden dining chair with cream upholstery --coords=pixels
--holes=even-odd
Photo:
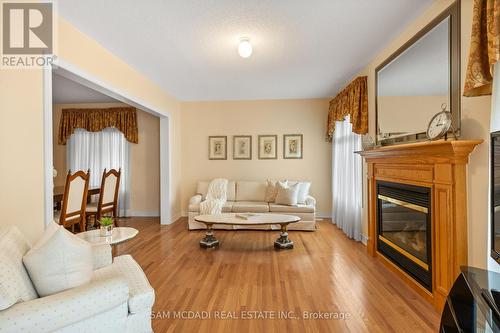
[[[120,188],[120,177],[122,170],[111,169],[102,173],[101,190],[99,191],[99,200],[97,203],[87,204],[87,219],[94,218],[94,226],[104,214],[111,213],[117,217],[118,213],[118,191]],[[116,224],[116,221],[115,221]]]

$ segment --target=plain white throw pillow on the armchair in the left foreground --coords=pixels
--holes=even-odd
[[[49,235],[42,236],[23,257],[38,295],[44,297],[90,282],[93,273],[90,243],[60,226],[49,226],[45,233]]]

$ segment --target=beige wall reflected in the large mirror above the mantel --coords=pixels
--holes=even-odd
[[[448,96],[379,96],[380,132],[425,132],[429,120],[441,111],[443,103],[449,104]]]

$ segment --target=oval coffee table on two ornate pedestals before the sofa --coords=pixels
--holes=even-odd
[[[256,214],[250,219],[243,219],[234,213],[222,213],[215,215],[198,215],[194,220],[207,226],[205,237],[200,241],[200,246],[204,248],[219,246],[219,241],[215,238],[212,228],[214,224],[240,226],[279,224],[281,233],[280,237],[274,242],[274,247],[277,249],[292,249],[293,241],[288,238],[287,228],[290,223],[299,222],[300,217],[282,214]]]

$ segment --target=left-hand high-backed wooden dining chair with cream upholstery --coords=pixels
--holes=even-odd
[[[85,231],[89,180],[89,170],[80,170],[74,174],[71,174],[70,170],[66,176],[61,211],[54,214],[54,220],[65,228],[71,227],[72,232],[75,231],[75,225],[79,225],[80,231]]]

